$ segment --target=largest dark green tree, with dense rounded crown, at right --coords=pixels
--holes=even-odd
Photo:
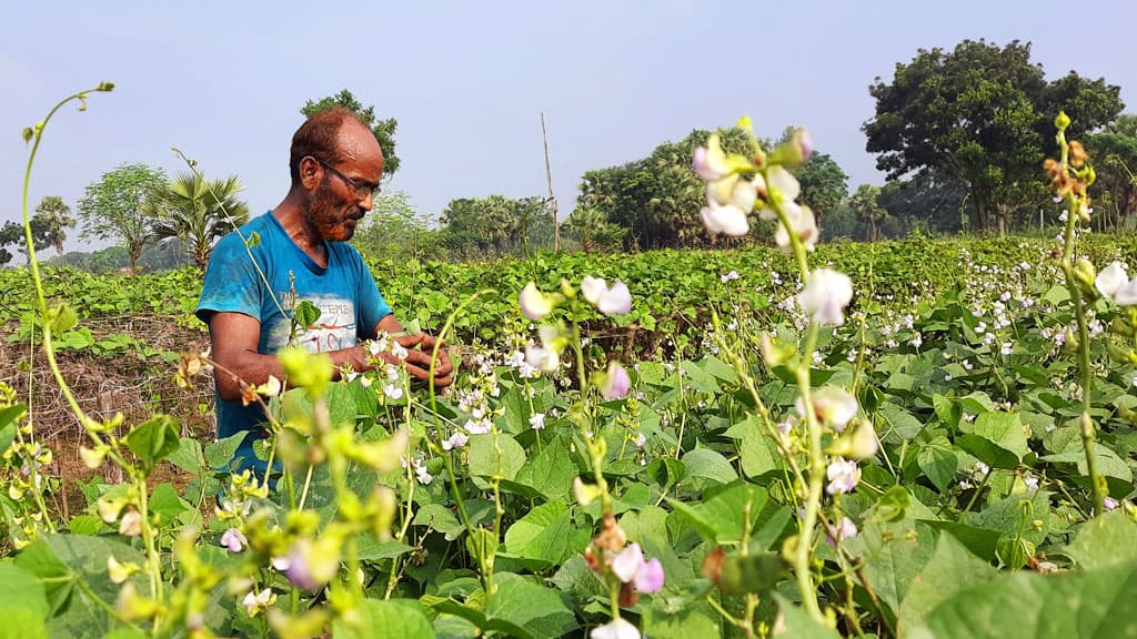
[[[1047,83],[1030,63],[1030,44],[1004,48],[965,40],[952,52],[921,49],[897,64],[891,83],[869,88],[875,116],[864,124],[866,149],[890,179],[938,172],[964,184],[979,229],[1001,229],[1015,209],[1034,209],[1038,167],[1053,147],[1054,117],[1064,109],[1077,138],[1112,121],[1120,88],[1074,73]],[[1034,194],[1032,194],[1034,193]]]

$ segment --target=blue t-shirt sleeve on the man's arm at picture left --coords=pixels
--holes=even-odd
[[[214,313],[241,313],[259,321],[263,289],[244,242],[231,233],[214,247],[196,315],[207,324]]]

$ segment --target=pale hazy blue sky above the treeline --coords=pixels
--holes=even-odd
[[[869,84],[964,39],[1029,41],[1047,77],[1104,76],[1137,111],[1135,18],[1129,0],[9,3],[0,222],[19,215],[23,127],[102,80],[117,89],[52,122],[33,207],[58,194],[74,208],[125,163],[184,171],[176,146],[207,176],[240,176],[264,211],[288,190],[299,108],[349,89],[399,121],[390,188],[429,215],[455,198],[543,196],[543,110],[564,216],[586,171],[744,114],[769,136],[808,126],[850,188],[881,183],[861,132]]]

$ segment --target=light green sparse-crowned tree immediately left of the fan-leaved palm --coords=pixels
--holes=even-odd
[[[166,184],[161,169],[144,164],[122,165],[86,186],[78,201],[83,218],[83,238],[117,240],[128,257],[127,268],[134,272],[142,249],[152,238],[152,219],[143,213],[148,198]]]

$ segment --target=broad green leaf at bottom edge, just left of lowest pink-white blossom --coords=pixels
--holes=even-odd
[[[579,628],[561,592],[511,573],[493,579],[497,592],[485,603],[488,617],[521,625],[534,637],[563,637]]]

